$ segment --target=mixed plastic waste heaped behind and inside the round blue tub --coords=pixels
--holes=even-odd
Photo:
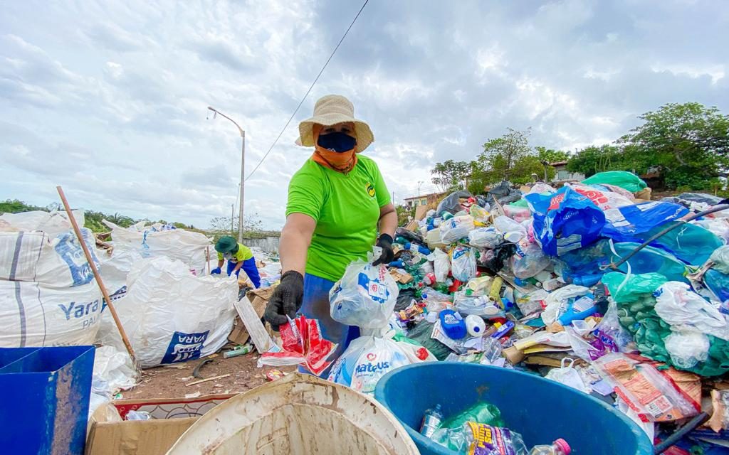
[[[636,175],[616,171],[445,197],[397,229],[381,274],[399,290],[391,329],[440,361],[516,368],[600,397],[656,441],[714,412],[714,430],[679,443],[714,447],[707,441],[729,435],[729,210],[686,222],[720,198],[647,194]],[[529,453],[504,422],[429,425],[430,437],[464,454],[486,434],[513,448],[483,453]],[[557,443],[539,450],[531,453],[568,453]]]

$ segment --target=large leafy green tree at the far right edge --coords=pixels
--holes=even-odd
[[[710,189],[729,170],[729,116],[701,103],[668,103],[618,141],[637,173],[660,170],[666,186]]]

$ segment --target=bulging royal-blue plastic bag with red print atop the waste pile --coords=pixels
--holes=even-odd
[[[569,186],[555,194],[527,194],[526,202],[534,213],[534,237],[550,256],[593,244],[605,224],[603,211]]]

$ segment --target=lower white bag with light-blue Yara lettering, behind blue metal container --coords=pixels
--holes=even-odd
[[[53,288],[0,280],[0,347],[93,344],[103,302],[95,282]]]

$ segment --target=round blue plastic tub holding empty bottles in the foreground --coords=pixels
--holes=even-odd
[[[375,398],[408,430],[423,455],[454,455],[418,433],[423,414],[440,404],[446,417],[475,403],[498,406],[528,448],[564,438],[575,455],[652,454],[647,435],[609,405],[520,371],[471,363],[432,362],[397,368],[378,382]]]

